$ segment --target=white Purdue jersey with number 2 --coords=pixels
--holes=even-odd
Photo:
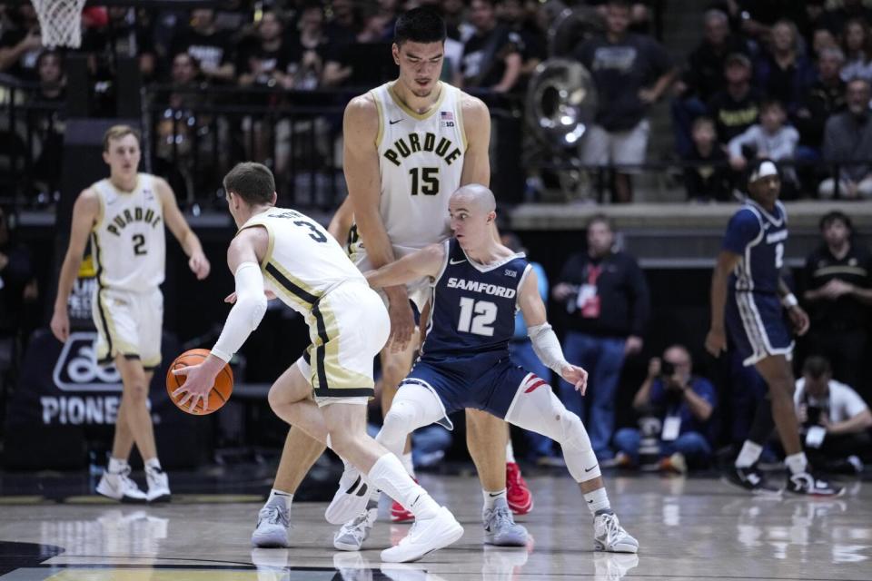
[[[163,282],[166,259],[163,206],[154,176],[140,173],[133,192],[120,192],[108,179],[91,187],[100,198],[100,217],[91,231],[100,286],[154,291]]]

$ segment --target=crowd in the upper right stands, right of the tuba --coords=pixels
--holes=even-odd
[[[709,3],[672,102],[689,198],[728,199],[761,156],[782,163],[787,199],[872,195],[870,15],[860,0]]]

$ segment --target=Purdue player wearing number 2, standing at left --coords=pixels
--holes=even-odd
[[[158,287],[166,254],[163,225],[182,244],[198,279],[209,274],[209,261],[169,184],[137,172],[139,134],[127,125],[115,125],[104,134],[103,148],[109,178],[94,183],[75,201],[51,327],[58,340],[69,338],[67,300],[90,237],[98,283],[92,303],[96,356],[101,363],[114,362],[124,383],[112,457],[96,491],[124,502],[169,500],[146,406],[154,368],[161,362],[163,295]],[[145,462],[147,492],[129,478],[127,458],[134,442]]]

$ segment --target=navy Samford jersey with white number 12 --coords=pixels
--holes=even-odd
[[[445,263],[433,281],[433,310],[425,357],[508,353],[515,332],[518,290],[530,270],[523,254],[488,266],[473,262],[453,238],[445,244]]]

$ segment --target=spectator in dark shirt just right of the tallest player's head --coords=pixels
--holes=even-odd
[[[471,21],[475,34],[463,45],[457,86],[508,93],[520,76],[520,36],[499,25],[494,0],[472,0]]]

